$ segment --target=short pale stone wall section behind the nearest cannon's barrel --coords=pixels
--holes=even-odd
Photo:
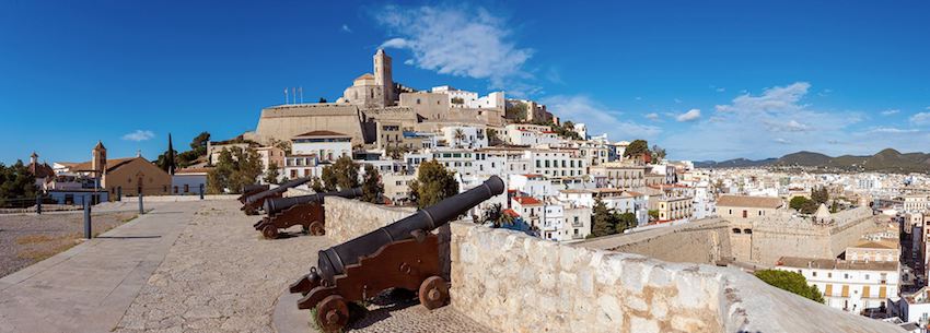
[[[396,207],[339,197],[325,201],[326,237],[341,243],[414,214],[412,207]]]

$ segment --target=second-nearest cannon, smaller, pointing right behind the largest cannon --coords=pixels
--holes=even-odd
[[[362,188],[265,200],[265,213],[268,216],[261,218],[254,227],[268,239],[278,238],[278,229],[287,229],[295,225],[303,226],[303,230],[311,235],[323,235],[326,233],[324,199],[334,195],[352,199],[362,195]]]

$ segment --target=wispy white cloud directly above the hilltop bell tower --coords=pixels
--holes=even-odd
[[[418,68],[488,79],[493,88],[512,88],[512,81],[532,76],[523,66],[533,50],[511,41],[510,22],[487,10],[387,5],[375,20],[396,36],[381,47],[409,50]]]

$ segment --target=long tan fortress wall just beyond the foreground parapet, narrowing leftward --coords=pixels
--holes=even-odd
[[[670,262],[716,263],[730,258],[728,224],[720,219],[603,237],[584,247],[648,255]]]

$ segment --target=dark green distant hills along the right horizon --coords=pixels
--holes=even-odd
[[[881,171],[893,174],[930,173],[930,154],[902,154],[893,148],[883,150],[871,156],[842,155],[830,157],[821,153],[798,152],[781,158],[746,159],[735,158],[723,162],[696,162],[698,168],[817,168],[841,171]]]

